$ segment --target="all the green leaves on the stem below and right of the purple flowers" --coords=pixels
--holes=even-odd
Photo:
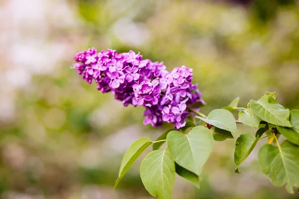
[[[276,93],[266,93],[260,100],[250,100],[248,107],[238,107],[239,98],[228,106],[212,110],[207,116],[188,107],[197,114],[196,122],[192,114],[186,126],[177,130],[167,130],[155,141],[147,137],[135,141],[126,152],[121,163],[115,188],[140,154],[152,144],[152,151],[140,166],[140,175],[149,194],[158,199],[170,199],[175,173],[199,188],[202,167],[213,147],[213,140],[224,141],[237,135],[237,123],[257,129],[256,135],[241,134],[236,141],[235,170],[248,157],[263,138],[268,144],[259,149],[258,159],[261,171],[276,186],[286,185],[289,193],[299,187],[299,110],[289,110],[279,104]],[[232,112],[239,111],[238,120]],[[266,136],[262,137],[263,134]],[[280,144],[280,135],[285,140]],[[167,142],[164,150],[159,148]]]

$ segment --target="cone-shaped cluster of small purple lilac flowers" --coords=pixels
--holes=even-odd
[[[168,72],[163,62],[143,60],[133,51],[118,54],[95,48],[75,55],[75,68],[89,84],[94,81],[102,93],[111,92],[125,106],[146,107],[144,124],[161,126],[173,123],[175,128],[185,125],[187,105],[202,102],[197,84],[192,85],[192,69],[176,67]]]

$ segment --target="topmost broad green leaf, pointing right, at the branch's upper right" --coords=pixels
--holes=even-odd
[[[289,121],[290,111],[279,104],[271,96],[263,96],[260,100],[250,100],[250,107],[261,119],[271,124],[292,127]]]

